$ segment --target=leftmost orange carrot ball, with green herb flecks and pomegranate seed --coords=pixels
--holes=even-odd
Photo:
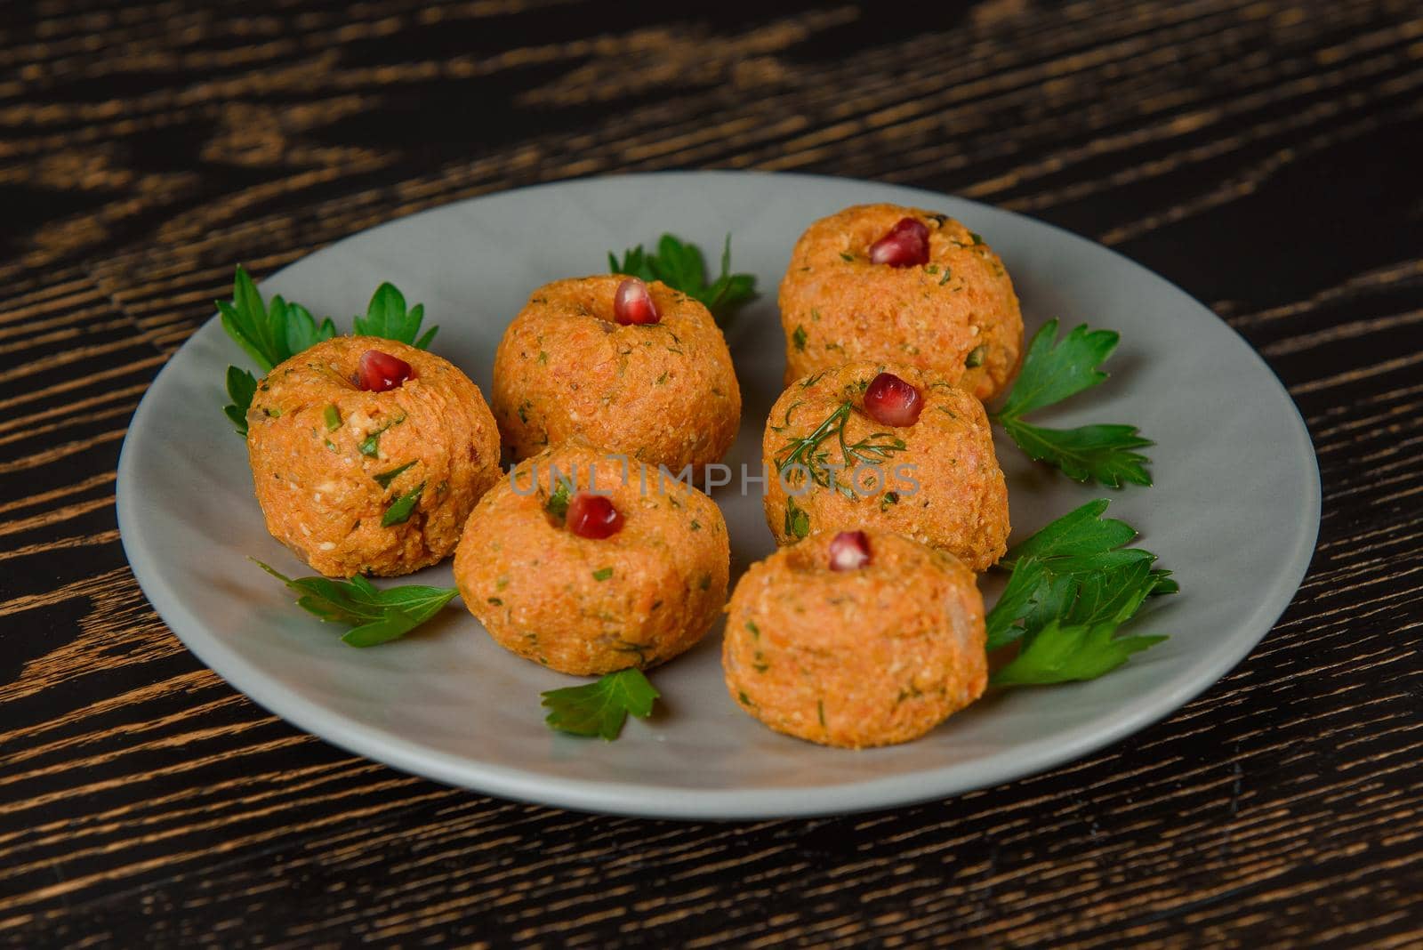
[[[444,560],[499,478],[480,388],[379,337],[326,340],[275,367],[248,410],[248,457],[268,530],[330,577]]]

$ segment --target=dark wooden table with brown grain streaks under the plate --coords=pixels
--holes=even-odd
[[[1423,9],[921,6],[4,9],[0,940],[1423,944]],[[114,468],[233,262],[659,168],[953,192],[1207,301],[1319,452],[1288,613],[1052,774],[736,825],[444,788],[198,663],[128,570]]]

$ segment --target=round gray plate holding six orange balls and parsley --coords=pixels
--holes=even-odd
[[[118,519],[134,575],[169,627],[249,697],[330,742],[443,782],[568,808],[673,818],[768,818],[882,808],[992,785],[1084,755],[1212,684],[1271,629],[1319,526],[1309,437],[1269,368],[1210,310],[1130,260],[1063,230],[931,192],[869,182],[696,172],[575,181],[437,208],[356,235],[263,283],[343,329],[379,280],[425,303],[435,350],[490,390],[499,334],[528,293],[596,273],[608,249],[673,230],[757,276],[763,297],[729,334],[746,421],[729,464],[758,465],[780,391],[776,287],[814,219],[847,205],[939,209],[1002,253],[1029,331],[1049,317],[1121,331],[1111,380],[1044,421],[1128,421],[1158,445],[1155,486],[1076,485],[999,445],[1026,536],[1110,495],[1111,515],[1177,572],[1140,631],[1171,639],[1093,683],[985,698],[926,738],[848,752],[777,735],[721,684],[720,630],[653,674],[663,694],[616,742],[544,725],[539,693],[573,680],[497,647],[464,610],[408,640],[346,647],[253,566],[310,573],[263,529],[242,441],[222,415],[243,354],[211,320],[164,367],[134,417]],[[758,496],[717,495],[733,577],[771,550]],[[448,585],[441,566],[413,580]],[[995,582],[988,580],[993,585]],[[995,587],[996,590],[996,587]]]

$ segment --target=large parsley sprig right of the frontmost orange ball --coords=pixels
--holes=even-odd
[[[988,649],[1017,644],[992,677],[996,685],[1093,680],[1164,636],[1117,636],[1147,597],[1175,593],[1155,555],[1126,548],[1137,530],[1103,518],[1097,499],[1063,515],[1007,552],[1013,573],[988,614]]]

